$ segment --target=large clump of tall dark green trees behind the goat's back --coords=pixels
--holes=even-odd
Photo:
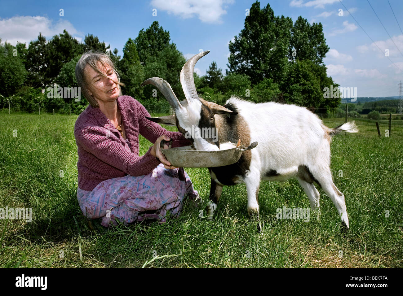
[[[311,110],[337,108],[340,97],[326,97],[325,87],[338,87],[327,77],[323,58],[329,47],[321,23],[310,25],[298,17],[276,17],[270,5],[256,1],[245,18],[245,27],[229,43],[229,73],[250,77],[256,101],[283,99]],[[262,82],[264,81],[264,82]],[[271,88],[267,92],[264,87]]]

